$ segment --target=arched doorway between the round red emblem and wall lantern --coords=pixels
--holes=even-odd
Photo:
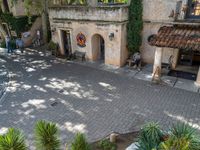
[[[105,41],[99,34],[92,36],[92,58],[94,61],[105,60]]]

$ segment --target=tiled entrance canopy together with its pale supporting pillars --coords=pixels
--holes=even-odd
[[[160,80],[164,47],[200,53],[200,25],[163,26],[149,36],[148,42],[156,46],[153,78]],[[195,84],[200,86],[200,67]]]

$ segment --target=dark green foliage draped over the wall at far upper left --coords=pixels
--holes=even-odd
[[[29,24],[29,19],[26,16],[16,18],[10,13],[1,13],[0,19],[9,25],[11,30],[16,31],[17,35],[20,35],[21,32],[29,30],[29,28],[32,26],[32,24]],[[32,17],[31,22],[34,22],[35,19],[35,16]]]

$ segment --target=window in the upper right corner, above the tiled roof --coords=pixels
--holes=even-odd
[[[188,18],[200,19],[200,0],[189,0]]]

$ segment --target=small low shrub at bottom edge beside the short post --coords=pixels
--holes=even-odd
[[[101,150],[116,150],[117,146],[115,143],[110,142],[108,139],[101,140],[98,143],[98,147]]]

